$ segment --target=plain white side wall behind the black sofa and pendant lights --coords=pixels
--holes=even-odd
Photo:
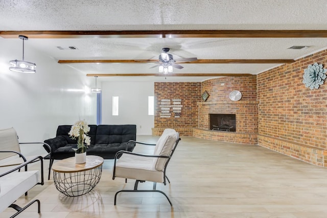
[[[14,127],[20,142],[30,142],[53,138],[58,125],[78,119],[96,124],[96,94],[84,92],[94,78],[33,50],[28,42],[25,60],[36,63],[35,74],[8,69],[10,60],[22,59],[22,42],[0,38],[0,128]]]

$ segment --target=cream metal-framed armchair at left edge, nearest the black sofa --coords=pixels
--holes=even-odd
[[[0,169],[2,167],[6,167],[5,169],[7,170],[8,167],[13,167],[32,159],[34,159],[33,162],[38,161],[38,159],[35,158],[40,155],[22,155],[20,152],[21,144],[41,144],[50,148],[50,146],[44,142],[18,142],[18,136],[16,130],[13,127],[0,129]],[[45,158],[50,155],[51,152],[48,152],[41,157]],[[25,165],[25,170],[27,170],[27,165]]]

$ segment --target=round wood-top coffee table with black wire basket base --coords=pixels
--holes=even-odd
[[[58,191],[75,197],[88,193],[100,181],[103,158],[86,156],[86,163],[76,164],[75,157],[59,160],[52,165],[54,183]]]

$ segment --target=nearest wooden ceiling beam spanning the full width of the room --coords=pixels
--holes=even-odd
[[[0,31],[3,38],[325,38],[327,30]]]

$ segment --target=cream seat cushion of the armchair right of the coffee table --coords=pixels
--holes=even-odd
[[[163,183],[164,172],[154,168],[153,159],[123,154],[116,162],[115,177]]]

